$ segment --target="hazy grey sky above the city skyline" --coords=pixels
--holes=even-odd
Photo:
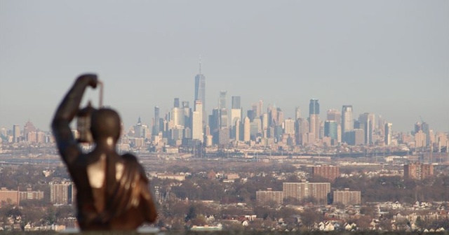
[[[48,130],[81,73],[98,73],[126,127],[206,76],[243,108],[263,99],[294,116],[319,99],[409,131],[449,131],[449,1],[0,1],[0,127]],[[97,101],[97,91],[89,91]],[[246,112],[246,111],[245,111]]]

